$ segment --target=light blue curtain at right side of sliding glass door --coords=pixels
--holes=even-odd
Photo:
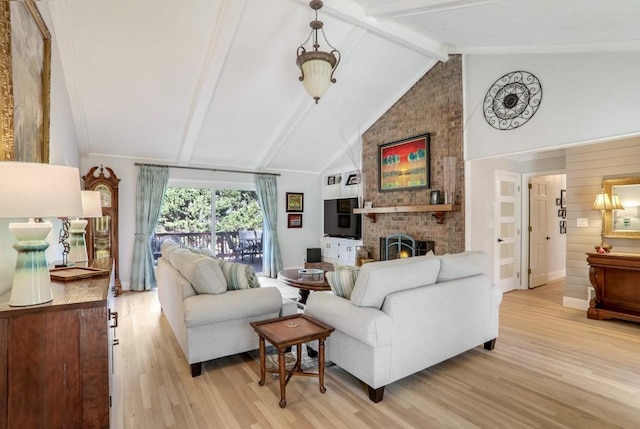
[[[282,271],[282,254],[278,243],[278,183],[276,177],[256,175],[258,202],[262,210],[262,272],[275,278]]]

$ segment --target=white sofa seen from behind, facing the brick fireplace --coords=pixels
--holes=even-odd
[[[349,299],[314,292],[305,313],[335,328],[326,360],[379,402],[387,384],[480,344],[493,349],[502,291],[483,274],[486,264],[484,252],[368,263]]]

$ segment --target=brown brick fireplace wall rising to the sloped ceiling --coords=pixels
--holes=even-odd
[[[438,255],[464,250],[462,60],[451,55],[438,63],[362,135],[363,200],[373,207],[429,204],[431,190],[443,190],[443,158],[455,157],[454,202],[460,211],[446,213],[444,222],[429,212],[381,213],[375,221],[362,217],[363,244],[370,257],[380,259],[380,237],[406,234],[435,243]],[[379,146],[430,133],[430,188],[409,191],[378,189]]]

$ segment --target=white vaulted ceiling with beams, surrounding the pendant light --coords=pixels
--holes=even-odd
[[[48,7],[83,155],[249,171],[348,164],[346,145],[449,54],[640,50],[637,0],[326,0],[342,61],[316,105],[295,65],[306,0]]]

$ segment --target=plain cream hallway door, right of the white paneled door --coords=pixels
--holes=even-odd
[[[529,185],[529,287],[547,283],[547,219],[549,181],[546,177],[532,177]]]

